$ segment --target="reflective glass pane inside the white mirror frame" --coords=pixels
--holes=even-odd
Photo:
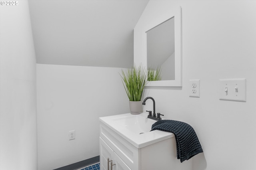
[[[148,30],[146,36],[148,69],[160,69],[158,80],[175,80],[174,17]]]

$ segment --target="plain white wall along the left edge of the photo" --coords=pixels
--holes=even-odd
[[[0,37],[0,169],[36,170],[36,58],[26,0],[0,6]]]

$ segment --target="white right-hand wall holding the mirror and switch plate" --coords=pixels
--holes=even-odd
[[[134,29],[134,61],[140,62],[143,22],[182,6],[182,88],[146,89],[156,112],[194,127],[204,153],[194,170],[256,169],[256,1],[150,1]],[[246,102],[220,101],[219,79],[246,78]],[[200,79],[200,98],[189,80]],[[152,109],[147,103],[144,111]],[[177,160],[179,161],[179,160]]]

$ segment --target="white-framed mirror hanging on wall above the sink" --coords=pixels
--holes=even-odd
[[[161,69],[161,80],[147,86],[182,86],[181,7],[146,31],[146,67]]]

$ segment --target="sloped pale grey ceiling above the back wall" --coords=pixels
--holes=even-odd
[[[133,29],[148,0],[29,0],[37,63],[133,65]]]

